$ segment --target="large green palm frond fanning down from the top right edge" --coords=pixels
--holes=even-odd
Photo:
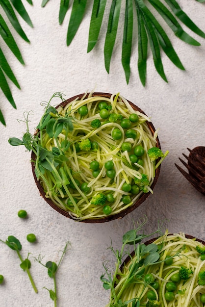
[[[45,6],[49,0],[43,0],[42,6]],[[197,0],[205,2],[205,0]],[[147,54],[148,46],[153,54],[154,66],[158,74],[168,82],[161,59],[161,52],[163,51],[168,58],[179,69],[184,70],[184,67],[174,50],[172,43],[165,32],[164,28],[158,21],[158,17],[162,17],[169,28],[174,32],[176,37],[187,44],[193,46],[200,46],[200,43],[191,35],[186,33],[180,23],[187,26],[191,31],[197,35],[205,38],[203,32],[181,9],[177,0],[112,0],[111,5],[107,5],[106,0],[93,0],[93,9],[90,19],[88,48],[90,52],[100,39],[100,30],[103,23],[104,12],[108,12],[109,17],[107,21],[106,36],[104,41],[104,65],[106,71],[109,73],[110,62],[116,43],[117,31],[119,24],[124,22],[123,42],[122,42],[122,65],[124,68],[127,83],[130,77],[130,59],[132,54],[132,37],[135,32],[138,36],[138,72],[142,84],[146,84],[147,75]],[[148,8],[146,2],[151,4]],[[85,16],[87,9],[87,0],[74,0],[73,5],[69,7],[69,0],[60,0],[59,23],[62,24],[66,12],[71,9],[67,32],[67,46],[69,46],[77,30]],[[122,11],[124,10],[124,11]],[[134,10],[136,14],[134,14]],[[157,14],[158,15],[157,15]],[[124,20],[121,17],[124,15]],[[155,17],[156,16],[156,17]],[[134,17],[137,19],[137,27],[134,25]],[[180,23],[179,23],[180,22]]]

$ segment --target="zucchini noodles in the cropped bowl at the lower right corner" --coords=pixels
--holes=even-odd
[[[152,306],[160,307],[203,307],[201,302],[201,295],[205,295],[205,280],[204,285],[198,283],[198,275],[200,272],[205,272],[205,257],[197,252],[196,247],[201,243],[195,238],[186,237],[184,233],[174,233],[160,236],[152,241],[158,246],[159,260],[156,263],[148,264],[144,267],[143,276],[130,279],[130,268],[137,261],[134,253],[125,260],[121,268],[121,274],[116,279],[115,296],[121,299],[122,302],[128,302],[132,299],[140,301],[140,307],[149,306],[148,291],[153,291],[155,294],[154,304]],[[171,264],[166,264],[165,258],[170,256],[173,261]],[[204,256],[204,255],[203,255]],[[188,279],[179,279],[175,281],[176,289],[172,292],[174,298],[172,300],[166,299],[166,284],[172,281],[172,276],[179,273],[181,267],[190,269],[191,273]],[[137,273],[136,273],[137,274]],[[158,288],[154,287],[153,283],[146,283],[144,277],[147,274],[154,276],[154,282],[158,282]],[[173,283],[173,282],[172,282]],[[126,286],[124,286],[126,284]],[[171,290],[170,290],[171,291]],[[108,306],[112,305],[112,301]],[[148,305],[147,305],[148,304]],[[132,303],[126,305],[132,306]],[[151,305],[150,305],[151,306]]]

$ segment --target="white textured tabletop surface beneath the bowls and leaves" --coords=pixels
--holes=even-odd
[[[184,231],[205,240],[205,196],[197,192],[174,165],[182,153],[188,153],[187,147],[205,146],[205,39],[193,34],[201,42],[201,47],[191,47],[171,34],[186,71],[177,69],[163,55],[168,84],[156,73],[149,54],[147,86],[143,88],[137,73],[137,55],[133,52],[132,72],[127,85],[119,43],[109,75],[104,68],[103,41],[94,51],[86,53],[90,15],[83,21],[71,46],[66,47],[70,13],[59,26],[59,1],[50,1],[44,9],[40,6],[41,0],[34,2],[37,3],[33,7],[25,4],[34,28],[22,23],[30,45],[14,33],[25,67],[10,51],[6,52],[22,87],[20,91],[11,84],[17,110],[0,93],[0,107],[7,123],[6,128],[0,126],[0,239],[15,235],[23,245],[24,257],[28,252],[32,253],[31,256],[42,253],[45,261],[57,261],[58,251],[70,240],[72,247],[57,275],[58,307],[104,307],[109,292],[103,289],[100,276],[104,260],[110,259],[113,264],[114,257],[107,250],[110,238],[113,246],[119,249],[122,235],[131,229],[133,220],[146,214],[149,218],[147,230],[150,231],[155,229],[158,219],[166,218],[165,227],[169,231]],[[205,30],[205,4],[195,0],[181,0],[180,4]],[[22,137],[25,125],[16,119],[23,119],[25,111],[33,110],[30,128],[31,131],[34,129],[43,111],[40,102],[48,101],[54,92],[62,91],[69,98],[94,87],[100,92],[120,92],[143,109],[152,117],[154,127],[160,128],[158,135],[162,150],[170,151],[161,167],[154,195],[122,220],[100,225],[73,222],[47,205],[35,186],[30,154],[23,147],[11,147],[7,141],[9,137]],[[17,216],[22,208],[28,212],[26,220]],[[30,232],[38,238],[34,245],[26,241],[26,234]],[[52,288],[46,269],[32,261],[31,273],[38,294],[34,293],[26,273],[19,267],[15,253],[0,243],[0,274],[5,278],[4,284],[0,285],[0,307],[53,306],[49,293],[43,289],[44,286]]]

